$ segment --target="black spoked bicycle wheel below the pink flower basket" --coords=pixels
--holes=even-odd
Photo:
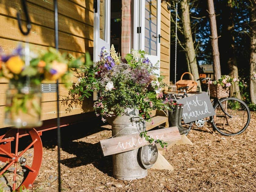
[[[251,114],[248,106],[237,98],[220,99],[213,108],[216,115],[212,117],[212,126],[222,135],[238,135],[250,123]]]

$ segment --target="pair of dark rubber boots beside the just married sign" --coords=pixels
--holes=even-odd
[[[177,126],[181,135],[188,133],[188,129],[184,128],[181,124],[182,112],[183,104],[177,104],[173,111],[168,111],[169,126]]]

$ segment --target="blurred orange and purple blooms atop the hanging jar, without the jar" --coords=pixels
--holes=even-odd
[[[30,52],[27,57],[28,65],[25,64],[25,51],[21,46],[11,54],[0,53],[0,77],[3,76],[16,85],[26,82],[38,85],[43,80],[57,79],[70,84],[69,77],[72,73],[68,69],[82,64],[79,59],[70,61],[65,54],[62,55],[54,48],[48,48],[40,54]]]

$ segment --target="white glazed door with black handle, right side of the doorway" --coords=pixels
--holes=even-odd
[[[155,64],[160,61],[161,0],[134,0],[133,5],[133,49],[148,52]]]

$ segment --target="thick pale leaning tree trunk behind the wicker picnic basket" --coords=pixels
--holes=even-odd
[[[182,0],[180,2],[181,11],[182,11],[182,25],[183,25],[183,32],[185,36],[185,46],[186,46],[186,53],[189,60],[190,70],[193,74],[195,80],[199,79],[198,67],[197,67],[197,60],[195,55],[194,43],[192,39],[191,27],[190,27],[190,18],[189,18],[189,4],[188,0]],[[197,81],[198,86],[201,85],[200,81]]]

